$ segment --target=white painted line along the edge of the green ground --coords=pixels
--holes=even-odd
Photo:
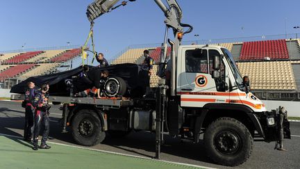
[[[8,135],[8,134],[0,134],[0,136],[8,136],[8,137],[12,137],[12,138],[22,138],[20,136],[12,136],[12,135]],[[173,163],[173,164],[182,165],[182,166],[215,169],[215,168],[210,168],[210,167],[206,167],[206,166],[198,166],[198,165],[194,165],[194,164],[190,164],[190,163],[177,163],[177,162],[173,162],[173,161],[151,159],[149,157],[144,157],[144,156],[135,156],[135,155],[123,154],[123,153],[119,153],[119,152],[109,152],[109,151],[106,151],[106,150],[97,150],[97,149],[92,149],[92,148],[87,148],[87,147],[80,147],[80,146],[76,146],[76,145],[66,145],[66,144],[63,144],[63,143],[54,143],[54,142],[51,142],[51,141],[47,141],[47,143],[52,143],[54,145],[64,145],[64,146],[67,146],[67,147],[74,147],[74,148],[83,149],[83,150],[91,150],[91,151],[95,151],[95,152],[105,152],[105,153],[117,154],[117,155],[121,155],[121,156],[131,156],[131,157],[138,158],[138,159],[147,159],[147,160],[153,160],[153,161],[163,161],[165,163]]]

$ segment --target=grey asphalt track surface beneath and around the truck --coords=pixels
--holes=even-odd
[[[61,133],[58,120],[60,120],[62,112],[58,108],[59,106],[51,108],[49,141],[76,145],[70,132]],[[22,136],[23,127],[24,108],[21,107],[21,103],[0,101],[0,134]],[[287,151],[274,150],[274,143],[256,140],[251,157],[242,165],[234,168],[300,168],[300,122],[290,122],[290,128],[292,139],[284,141]],[[165,141],[160,155],[161,159],[165,161],[210,168],[228,168],[213,163],[206,155],[201,142],[194,144],[189,140],[173,139],[168,136],[165,136]],[[30,149],[30,147],[27,148]],[[107,134],[103,143],[89,148],[152,158],[155,155],[155,134],[132,132],[124,138],[112,138]]]

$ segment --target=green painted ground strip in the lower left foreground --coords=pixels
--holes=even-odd
[[[0,168],[197,168],[64,145],[49,145],[49,150],[34,151],[30,143],[18,138],[0,136]]]

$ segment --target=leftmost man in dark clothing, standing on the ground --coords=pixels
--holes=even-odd
[[[29,81],[27,83],[28,89],[25,92],[25,99],[22,106],[25,108],[25,126],[24,126],[24,140],[31,141],[33,138],[34,129],[34,113],[33,99],[38,90],[35,88],[35,83]]]

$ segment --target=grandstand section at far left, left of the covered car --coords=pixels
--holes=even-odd
[[[28,77],[50,74],[81,54],[81,49],[52,49],[0,55],[0,87],[9,88]]]

